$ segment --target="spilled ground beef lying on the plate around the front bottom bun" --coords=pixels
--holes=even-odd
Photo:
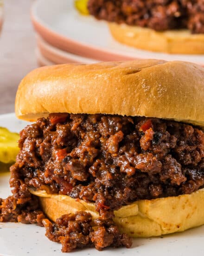
[[[92,221],[90,213],[85,211],[63,215],[56,223],[51,223],[39,209],[38,198],[29,192],[23,200],[14,195],[0,198],[0,222],[36,223],[44,226],[45,236],[53,242],[61,243],[62,252],[93,246],[102,250],[108,246],[130,248],[132,245],[131,238],[121,234],[112,219],[98,218]]]

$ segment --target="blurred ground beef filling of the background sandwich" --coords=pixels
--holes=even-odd
[[[89,0],[97,19],[162,31],[188,28],[204,33],[203,0]]]

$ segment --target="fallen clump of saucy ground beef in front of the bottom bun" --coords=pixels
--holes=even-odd
[[[93,245],[98,250],[107,246],[129,248],[132,245],[131,239],[126,234],[120,234],[112,220],[99,218],[93,224],[91,222],[90,213],[84,211],[63,215],[54,224],[44,219],[45,236],[51,241],[61,243],[62,252]]]

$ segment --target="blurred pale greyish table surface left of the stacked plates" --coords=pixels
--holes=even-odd
[[[19,82],[38,67],[30,21],[32,2],[4,0],[4,24],[0,34],[0,114],[14,111]]]

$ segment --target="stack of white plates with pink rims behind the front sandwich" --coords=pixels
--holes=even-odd
[[[74,0],[36,0],[31,18],[41,66],[147,58],[204,65],[204,55],[153,53],[122,45],[111,37],[105,21],[78,13]]]

